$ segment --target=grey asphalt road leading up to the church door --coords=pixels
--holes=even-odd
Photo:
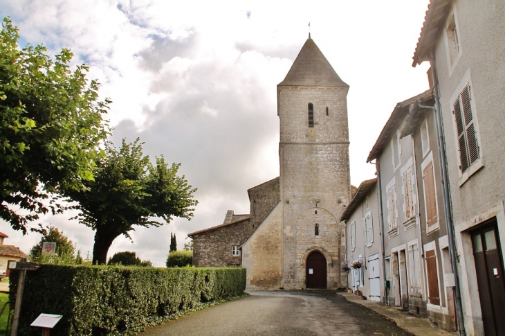
[[[139,335],[412,335],[333,291],[251,292]]]

